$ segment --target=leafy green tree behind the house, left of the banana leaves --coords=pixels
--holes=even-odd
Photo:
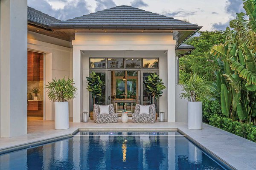
[[[180,81],[189,79],[192,74],[204,75],[204,77],[213,82],[215,80],[214,71],[218,69],[216,57],[209,51],[212,46],[224,43],[222,31],[199,31],[198,37],[191,37],[185,42],[193,45],[195,49],[190,55],[180,57]]]

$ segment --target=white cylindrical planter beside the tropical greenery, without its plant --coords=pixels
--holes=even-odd
[[[202,102],[188,102],[188,129],[202,129]]]

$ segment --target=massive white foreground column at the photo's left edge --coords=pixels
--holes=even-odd
[[[1,0],[1,137],[27,133],[27,0]]]

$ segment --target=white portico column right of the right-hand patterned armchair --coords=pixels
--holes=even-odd
[[[175,45],[167,50],[167,73],[168,73],[168,122],[175,122]]]

